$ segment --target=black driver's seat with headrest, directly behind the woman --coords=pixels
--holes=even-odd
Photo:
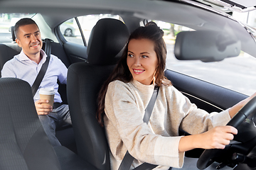
[[[129,38],[127,26],[112,18],[98,21],[90,34],[87,62],[68,69],[67,94],[78,155],[100,170],[110,169],[105,130],[96,120],[97,94]]]

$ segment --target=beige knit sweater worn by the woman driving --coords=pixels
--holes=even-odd
[[[104,118],[111,150],[111,166],[116,170],[129,151],[135,159],[132,167],[143,162],[159,164],[156,169],[181,168],[184,152],[178,152],[178,128],[191,134],[205,132],[230,120],[227,111],[207,113],[192,104],[174,86],[162,85],[149,120],[143,122],[144,111],[154,85],[139,81],[112,81],[105,98]]]

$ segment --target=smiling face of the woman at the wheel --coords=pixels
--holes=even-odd
[[[148,39],[132,39],[128,44],[127,65],[133,79],[141,84],[151,84],[158,59],[154,51],[154,42]]]

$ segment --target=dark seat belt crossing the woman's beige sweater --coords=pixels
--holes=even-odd
[[[155,86],[154,92],[150,98],[149,104],[146,106],[146,109],[145,109],[143,121],[146,124],[149,123],[149,119],[150,119],[151,113],[154,108],[154,103],[156,103],[156,97],[158,95],[158,92],[159,92],[159,86]],[[132,157],[132,155],[129,154],[129,152],[127,151],[126,154],[124,155],[124,159],[122,159],[122,162],[121,162],[118,170],[129,170],[132,165],[133,160],[134,160],[134,157]],[[149,163],[145,162],[145,163],[137,166],[134,170],[151,170],[151,169],[154,169],[156,166],[158,166],[158,165],[149,164]]]

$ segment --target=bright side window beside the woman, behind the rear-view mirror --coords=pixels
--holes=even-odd
[[[255,92],[255,57],[241,51],[238,57],[229,57],[220,62],[177,60],[174,56],[176,35],[180,31],[192,29],[162,21],[155,22],[165,33],[164,40],[167,49],[166,69],[208,81],[242,94],[251,95]]]

